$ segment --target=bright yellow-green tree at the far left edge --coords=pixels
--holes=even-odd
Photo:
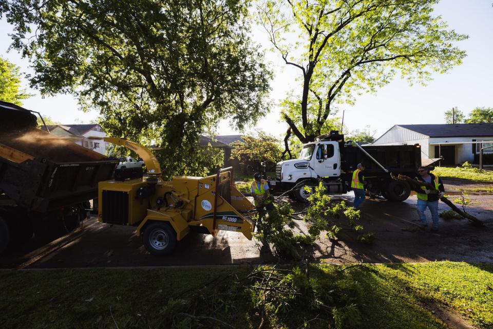
[[[22,105],[22,100],[30,96],[21,88],[20,68],[0,57],[0,100]]]

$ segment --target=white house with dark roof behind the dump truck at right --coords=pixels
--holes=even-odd
[[[493,145],[493,123],[396,124],[372,145],[421,145],[422,159],[443,156],[442,166],[478,163],[480,145]],[[493,154],[493,149],[483,154]]]

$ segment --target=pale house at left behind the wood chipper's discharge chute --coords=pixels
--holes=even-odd
[[[56,124],[47,125],[51,134],[69,137],[73,142],[98,153],[106,153],[106,142],[103,140],[106,133],[97,124]],[[46,130],[44,126],[41,129]]]

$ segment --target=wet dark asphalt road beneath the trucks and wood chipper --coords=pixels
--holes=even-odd
[[[448,190],[460,184],[447,185]],[[363,204],[361,225],[373,232],[372,245],[356,241],[356,235],[343,230],[333,241],[321,236],[313,250],[304,255],[323,263],[392,263],[452,260],[493,262],[493,196],[467,196],[477,202],[467,211],[483,220],[485,226],[472,226],[467,220],[440,220],[440,230],[419,230],[416,197],[403,203],[367,199]],[[333,196],[352,203],[353,194]],[[288,199],[285,200],[289,202]],[[296,209],[304,205],[295,204]],[[440,203],[439,212],[449,209]],[[428,213],[429,215],[429,213]],[[306,230],[303,221],[296,221],[299,230]],[[343,223],[342,223],[343,224]],[[431,224],[431,223],[430,223]],[[236,232],[222,231],[213,237],[191,233],[166,257],[148,254],[133,227],[101,224],[96,217],[84,222],[82,228],[53,241],[32,240],[0,255],[1,268],[73,268],[127,267],[173,265],[224,265],[276,263],[278,258],[269,247],[255,240],[248,241]]]

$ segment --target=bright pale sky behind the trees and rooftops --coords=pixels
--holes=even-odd
[[[356,97],[354,105],[341,107],[345,110],[344,125],[349,131],[370,127],[375,137],[381,136],[394,124],[445,123],[444,112],[457,106],[466,115],[478,106],[493,107],[493,6],[492,0],[442,0],[435,6],[435,14],[441,15],[450,29],[469,35],[469,39],[458,43],[466,50],[467,57],[462,65],[452,68],[447,74],[435,74],[427,86],[409,86],[398,77],[390,84],[378,89],[375,94]],[[266,59],[274,70],[270,94],[273,103],[271,113],[260,119],[248,131],[260,129],[276,137],[282,137],[287,124],[279,121],[277,104],[285,98],[289,90],[297,87],[288,83],[298,74],[298,69],[286,66],[277,53],[270,48],[267,34],[260,27],[254,27],[254,39],[266,50]],[[21,67],[21,71],[31,73],[29,62],[15,50],[8,51],[11,43],[11,26],[5,17],[0,21],[0,56]],[[23,107],[40,112],[64,124],[89,122],[97,118],[97,112],[79,111],[77,100],[71,95],[42,97],[29,88],[35,96],[24,100]],[[234,135],[231,124],[222,120],[218,135]],[[345,132],[346,133],[346,132]]]

